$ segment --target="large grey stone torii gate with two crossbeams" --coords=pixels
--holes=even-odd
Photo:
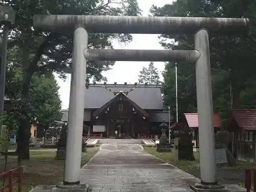
[[[137,17],[96,15],[35,15],[34,28],[74,30],[67,152],[63,186],[79,185],[83,102],[87,60],[196,62],[200,143],[200,188],[221,188],[217,183],[209,32],[217,35],[247,33],[245,18]],[[88,33],[194,34],[195,50],[88,49]]]

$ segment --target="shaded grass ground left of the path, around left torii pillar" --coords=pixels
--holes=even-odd
[[[87,152],[82,153],[81,166],[86,164],[97,152],[99,148],[87,148]],[[22,165],[26,166],[23,175],[23,192],[29,191],[37,185],[55,185],[63,179],[64,160],[55,160],[56,149],[30,150],[30,160],[23,160]],[[4,172],[4,157],[0,158],[0,173]],[[17,157],[9,156],[7,170],[17,165]],[[16,180],[16,176],[14,176]],[[5,185],[7,182],[5,182]],[[0,187],[3,181],[0,180]],[[13,191],[16,190],[16,186]]]

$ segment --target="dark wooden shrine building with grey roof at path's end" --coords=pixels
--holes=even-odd
[[[161,135],[163,112],[161,85],[90,84],[84,98],[83,135],[102,138],[143,138]],[[173,116],[170,114],[170,123]],[[90,131],[89,131],[90,130]]]

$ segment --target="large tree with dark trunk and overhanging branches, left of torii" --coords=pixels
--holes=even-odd
[[[71,15],[138,15],[140,9],[136,0],[121,0],[116,5],[114,0],[6,0],[1,4],[9,4],[16,12],[16,22],[11,30],[9,49],[16,49],[18,57],[13,60],[12,67],[19,67],[22,72],[21,98],[19,108],[22,109],[18,131],[18,160],[29,158],[30,111],[28,103],[31,78],[34,73],[47,74],[56,71],[65,77],[72,58],[73,31],[40,32],[33,29],[34,14],[71,14]],[[112,4],[115,6],[112,7]],[[129,42],[131,35],[126,34],[90,34],[90,48],[112,49],[111,40]],[[114,62],[88,62],[87,80],[104,79],[102,71],[109,70]]]

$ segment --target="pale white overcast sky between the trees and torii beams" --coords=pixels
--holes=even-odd
[[[140,9],[143,11],[143,16],[150,14],[150,8],[154,4],[158,7],[162,7],[165,4],[169,4],[172,0],[137,0]],[[133,41],[129,44],[120,44],[118,41],[113,41],[114,49],[163,49],[159,44],[159,38],[157,34],[132,34]],[[112,70],[103,72],[103,76],[108,78],[108,83],[117,82],[119,84],[134,83],[138,81],[139,71],[143,66],[147,67],[149,62],[132,62],[132,61],[116,61]],[[155,67],[159,72],[164,70],[164,62],[154,62]],[[162,78],[162,77],[161,77]],[[161,80],[161,78],[159,80]],[[68,74],[66,81],[56,77],[57,83],[60,86],[59,95],[61,99],[61,108],[69,108],[69,93],[70,93],[70,79],[71,75]]]

